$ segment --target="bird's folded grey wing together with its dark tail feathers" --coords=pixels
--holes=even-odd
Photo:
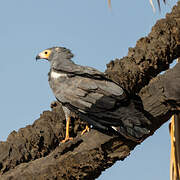
[[[55,95],[97,128],[113,128],[133,140],[149,133],[146,125],[150,122],[135,109],[124,90],[111,81],[74,76],[61,83]]]

